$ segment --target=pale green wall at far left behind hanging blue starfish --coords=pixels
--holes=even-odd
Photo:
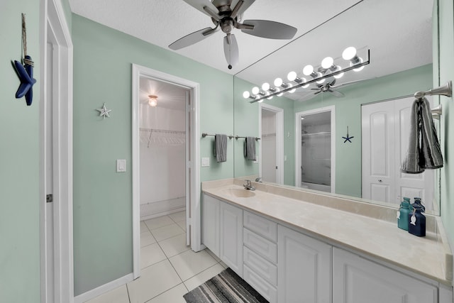
[[[35,62],[33,104],[16,99],[21,13]],[[40,301],[39,74],[40,1],[0,1],[0,302]]]

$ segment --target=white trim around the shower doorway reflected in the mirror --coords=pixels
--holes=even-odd
[[[301,187],[301,116],[331,112],[331,192],[336,193],[336,106],[325,106],[295,114],[295,186]]]

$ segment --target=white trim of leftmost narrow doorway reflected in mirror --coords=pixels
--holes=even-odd
[[[260,103],[258,106],[258,133],[262,138],[262,109],[272,111],[276,114],[276,164],[277,164],[277,175],[276,182],[278,184],[284,184],[284,109],[269,104]],[[262,138],[263,142],[263,138]],[[259,177],[262,177],[262,159],[263,150],[262,142],[259,144]]]

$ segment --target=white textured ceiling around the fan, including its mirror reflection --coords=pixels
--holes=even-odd
[[[80,16],[166,50],[184,35],[213,26],[208,16],[183,0],[70,0],[70,6]],[[432,61],[432,6],[432,0],[256,0],[243,20],[294,26],[298,31],[293,42],[234,29],[240,60],[232,70],[223,54],[221,31],[175,52],[260,84],[284,79],[290,70],[301,75],[304,65],[320,65],[323,57],[339,57],[345,47],[355,45],[370,48],[371,64],[345,75],[343,82],[380,77]]]

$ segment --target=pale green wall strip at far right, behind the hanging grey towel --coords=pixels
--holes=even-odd
[[[440,83],[454,80],[454,4],[453,0],[439,0]],[[441,97],[441,145],[445,167],[441,169],[441,218],[454,249],[454,98]]]

